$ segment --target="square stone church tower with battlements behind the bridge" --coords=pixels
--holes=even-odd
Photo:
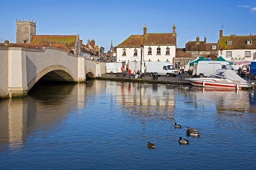
[[[33,35],[36,35],[36,20],[18,21],[16,19],[16,43],[30,43]]]

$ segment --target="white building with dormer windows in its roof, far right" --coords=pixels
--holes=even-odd
[[[256,35],[223,36],[220,30],[218,43],[218,57],[222,56],[227,61],[255,61],[256,60]]]

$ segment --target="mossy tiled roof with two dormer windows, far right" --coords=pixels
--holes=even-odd
[[[251,45],[247,45],[247,40],[252,40]],[[232,45],[227,45],[227,41],[232,41]],[[223,36],[219,39],[219,49],[256,49],[256,35],[247,36]]]

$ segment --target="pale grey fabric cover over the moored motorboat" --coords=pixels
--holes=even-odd
[[[245,79],[241,78],[231,69],[217,69],[213,76],[227,78],[232,81],[240,81],[242,83],[247,83]]]

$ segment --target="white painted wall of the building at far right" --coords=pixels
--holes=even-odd
[[[231,60],[232,58],[230,57],[226,57],[226,52],[227,51],[231,51],[232,52],[232,58],[233,60]],[[251,57],[245,57],[245,52],[246,51],[251,51]],[[243,60],[239,60],[239,58],[244,58],[244,61],[255,61],[255,59],[253,60],[253,56],[255,56],[256,54],[256,49],[229,49],[229,50],[218,50],[218,57],[222,56],[223,58],[225,58],[225,60],[227,61],[243,61]],[[234,60],[235,58],[237,58],[237,60]],[[256,56],[255,56],[256,58]]]

